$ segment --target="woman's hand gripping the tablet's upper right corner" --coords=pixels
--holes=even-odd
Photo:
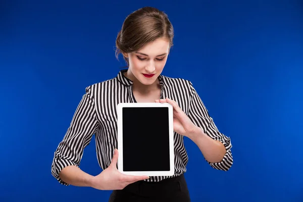
[[[195,131],[197,126],[192,123],[188,116],[181,110],[178,104],[169,98],[156,99],[155,103],[169,103],[173,106],[174,114],[174,131],[180,135],[190,137]]]

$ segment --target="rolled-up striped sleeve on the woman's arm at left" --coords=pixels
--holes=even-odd
[[[71,124],[63,140],[59,143],[52,163],[52,175],[63,185],[69,185],[59,177],[67,166],[79,167],[84,148],[97,130],[96,112],[91,86],[85,88],[85,94],[74,113]]]

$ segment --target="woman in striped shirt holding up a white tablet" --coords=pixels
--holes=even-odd
[[[167,15],[145,7],[130,14],[116,39],[128,69],[110,80],[86,87],[71,125],[55,151],[52,174],[61,184],[113,190],[110,201],[190,201],[186,181],[188,161],[183,137],[196,143],[215,169],[232,166],[230,139],[220,133],[192,83],[161,75],[173,45]],[[169,103],[174,109],[175,175],[128,176],[117,170],[118,103]],[[83,149],[96,138],[100,167],[97,176],[78,168]]]

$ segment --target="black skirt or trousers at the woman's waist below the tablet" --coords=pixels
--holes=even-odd
[[[160,182],[138,181],[122,190],[114,190],[109,202],[189,202],[189,192],[184,175]]]

